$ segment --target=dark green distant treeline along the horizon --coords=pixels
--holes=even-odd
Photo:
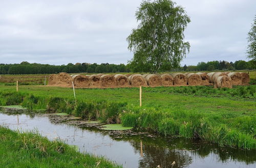
[[[184,65],[183,67],[172,69],[172,71],[214,71],[214,70],[242,70],[256,69],[256,61],[227,61],[200,62],[196,66]],[[68,65],[30,64],[22,62],[20,64],[0,64],[0,74],[51,74],[51,73],[118,73],[136,72],[132,65],[127,64],[89,64],[89,63],[69,63]]]

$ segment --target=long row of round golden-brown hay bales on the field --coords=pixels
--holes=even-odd
[[[172,74],[116,74],[116,75],[69,75],[68,73],[52,74],[48,85],[76,88],[112,88],[140,86],[205,86],[231,88],[232,85],[248,85],[250,78],[247,73],[210,72],[210,73],[172,73]]]

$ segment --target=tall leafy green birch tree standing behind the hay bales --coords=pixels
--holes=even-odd
[[[127,41],[134,52],[133,71],[157,73],[177,68],[189,51],[184,30],[190,22],[185,10],[170,0],[143,1],[136,11],[139,22]]]

